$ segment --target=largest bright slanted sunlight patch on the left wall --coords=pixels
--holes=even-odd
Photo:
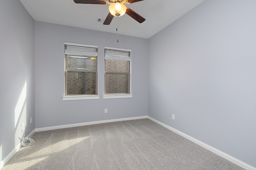
[[[25,103],[25,100],[26,100],[26,94],[27,94],[27,82],[25,82],[24,86],[23,86],[23,89],[22,89],[22,92],[20,94],[20,98],[16,104],[16,107],[14,109],[14,114],[15,114],[15,124],[14,124],[14,128],[16,128],[17,124],[18,124],[18,120],[19,120],[19,117],[22,113],[22,108],[24,106],[24,103]]]

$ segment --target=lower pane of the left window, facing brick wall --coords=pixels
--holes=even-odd
[[[96,72],[67,72],[67,95],[96,94]]]

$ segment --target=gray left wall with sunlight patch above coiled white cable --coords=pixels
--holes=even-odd
[[[19,0],[0,0],[0,162],[20,143],[22,123],[26,135],[35,129],[34,47],[33,18]]]

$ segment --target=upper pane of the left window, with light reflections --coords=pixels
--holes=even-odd
[[[97,70],[96,57],[66,55],[66,69]]]

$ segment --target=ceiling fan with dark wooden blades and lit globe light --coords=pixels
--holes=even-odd
[[[134,2],[139,2],[142,0],[74,0],[76,4],[102,4],[102,5],[109,5],[109,13],[104,21],[104,25],[109,25],[114,16],[119,17],[124,14],[132,17],[134,20],[138,21],[139,23],[144,22],[146,19],[131,10],[130,8],[126,7],[126,4],[132,4]]]

